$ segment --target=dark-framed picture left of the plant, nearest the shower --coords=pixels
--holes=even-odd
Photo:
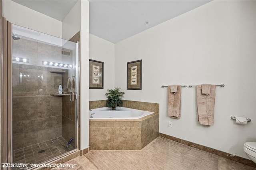
[[[104,62],[89,59],[89,89],[104,88]]]

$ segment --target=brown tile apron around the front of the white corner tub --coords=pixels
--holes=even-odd
[[[90,150],[142,149],[159,134],[159,114],[140,119],[90,119]]]

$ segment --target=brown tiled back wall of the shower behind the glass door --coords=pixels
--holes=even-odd
[[[61,51],[61,47],[22,37],[13,41],[13,56],[29,59],[29,65],[12,65],[13,150],[62,136],[63,97],[50,94],[58,93],[59,84],[67,90],[68,70],[41,66],[42,60],[70,63],[72,57]],[[50,72],[62,70],[66,73]]]

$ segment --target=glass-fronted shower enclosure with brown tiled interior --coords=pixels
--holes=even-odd
[[[12,25],[14,163],[39,164],[77,150],[77,52],[78,43]]]

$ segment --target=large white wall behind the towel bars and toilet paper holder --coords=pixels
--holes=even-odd
[[[115,86],[126,100],[160,103],[161,133],[247,158],[244,142],[256,142],[255,9],[256,1],[212,1],[116,43]],[[126,64],[138,59],[142,90],[126,90]],[[202,83],[225,84],[216,88],[214,126],[198,123],[195,87],[182,88],[181,118],[168,117],[161,86]]]

